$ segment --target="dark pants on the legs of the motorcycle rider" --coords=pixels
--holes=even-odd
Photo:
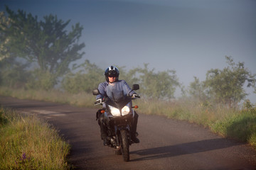
[[[99,111],[98,111],[99,112]],[[100,125],[100,137],[104,140],[107,137],[107,120],[104,114],[97,113],[98,124]],[[134,122],[132,123],[131,135],[137,132],[137,123],[139,115],[134,111]]]

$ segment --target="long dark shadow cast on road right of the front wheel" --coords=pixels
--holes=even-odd
[[[233,147],[235,145],[241,145],[241,143],[230,142],[227,139],[220,138],[212,140],[201,140],[198,142],[189,142],[180,145],[137,150],[130,152],[130,154],[138,154],[142,156],[142,158],[131,160],[132,162],[137,162],[149,159],[161,159],[164,157],[175,157],[183,154],[195,154],[198,152],[206,152],[215,149]]]

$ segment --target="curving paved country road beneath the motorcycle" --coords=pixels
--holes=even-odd
[[[96,108],[1,96],[0,104],[38,114],[55,125],[72,146],[70,162],[77,169],[256,169],[252,148],[197,125],[139,114],[141,142],[130,147],[131,161],[124,162],[102,145]]]

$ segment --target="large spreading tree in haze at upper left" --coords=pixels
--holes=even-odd
[[[36,63],[38,81],[45,77],[43,74],[50,74],[54,79],[54,86],[58,77],[70,72],[70,63],[79,60],[84,54],[79,52],[85,47],[84,43],[78,43],[82,33],[79,23],[67,33],[65,28],[70,20],[64,22],[50,14],[44,16],[43,21],[38,21],[37,16],[32,16],[31,13],[26,14],[21,10],[15,13],[7,6],[6,12],[11,23],[1,24],[1,32],[9,40],[9,51],[15,57]]]

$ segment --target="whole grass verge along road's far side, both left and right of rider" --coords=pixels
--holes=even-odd
[[[25,91],[0,88],[0,94],[16,98],[30,98],[41,101],[68,103],[75,106],[96,107],[93,105],[95,96],[92,94],[68,94],[60,91]],[[139,113],[164,115],[166,118],[186,120],[190,123],[203,125],[223,137],[231,137],[247,142],[256,149],[256,107],[245,102],[242,109],[227,108],[214,103],[181,98],[174,101],[140,100],[134,101],[139,105]],[[97,106],[100,107],[100,106]]]

